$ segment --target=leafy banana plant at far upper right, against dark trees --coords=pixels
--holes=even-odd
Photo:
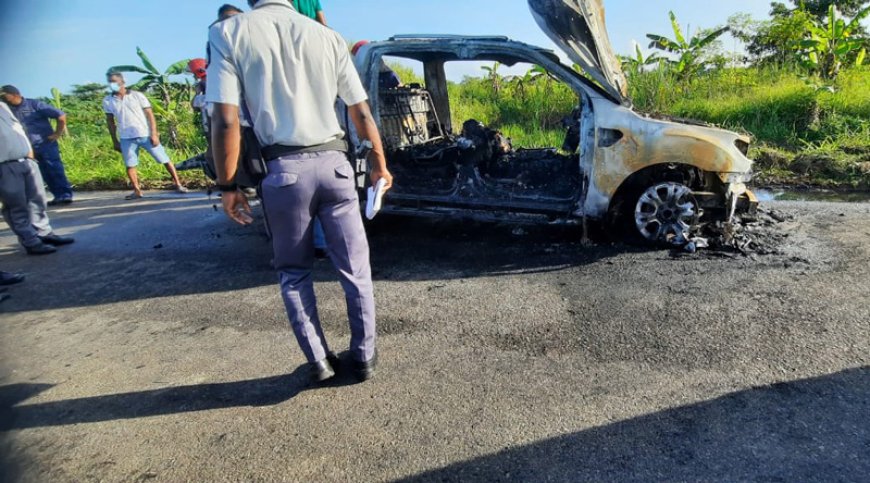
[[[810,72],[823,79],[837,78],[846,59],[855,55],[855,65],[864,63],[867,56],[867,39],[853,37],[859,30],[861,21],[870,15],[870,7],[858,12],[849,23],[843,19],[831,4],[825,20],[807,22],[807,38],[798,42],[797,48],[801,61]]]

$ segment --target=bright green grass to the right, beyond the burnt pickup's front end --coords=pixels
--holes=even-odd
[[[844,71],[833,92],[776,69],[723,69],[683,84],[666,72],[630,79],[638,110],[749,133],[760,182],[870,187],[870,69]]]

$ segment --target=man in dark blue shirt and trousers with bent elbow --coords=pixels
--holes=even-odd
[[[15,86],[0,87],[0,99],[9,105],[27,131],[39,170],[49,191],[54,195],[54,199],[48,204],[55,206],[72,203],[72,186],[66,177],[57,144],[58,138],[66,131],[66,114],[45,102],[25,99]],[[51,119],[56,121],[54,127],[51,126]]]

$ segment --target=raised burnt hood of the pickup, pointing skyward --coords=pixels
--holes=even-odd
[[[614,99],[628,104],[625,74],[607,36],[601,0],[529,0],[535,21]]]

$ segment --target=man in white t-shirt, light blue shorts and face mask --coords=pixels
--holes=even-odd
[[[155,161],[166,167],[172,176],[172,183],[179,193],[187,193],[178,173],[166,150],[160,144],[160,134],[157,132],[157,120],[151,102],[140,92],[127,90],[124,76],[119,72],[108,72],[111,94],[103,99],[103,112],[106,113],[106,123],[115,151],[121,153],[127,176],[133,185],[133,193],[126,199],[137,200],[143,197],[139,185],[139,175],[136,166],[139,165],[139,150],[145,149]]]

